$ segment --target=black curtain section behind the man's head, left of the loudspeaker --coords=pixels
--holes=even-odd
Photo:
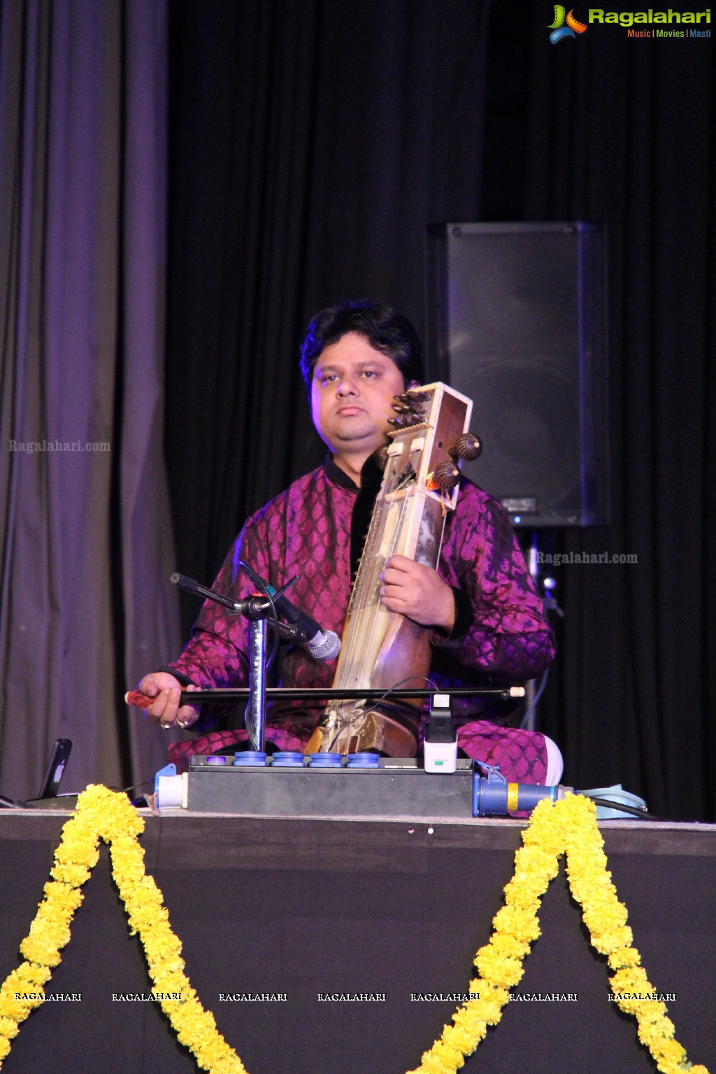
[[[371,296],[421,324],[423,228],[479,208],[486,10],[172,4],[166,444],[186,572],[213,578],[247,513],[323,458],[296,364],[308,318]]]

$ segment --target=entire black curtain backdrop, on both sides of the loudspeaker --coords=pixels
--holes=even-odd
[[[595,26],[554,46],[553,11],[172,4],[177,565],[209,580],[247,513],[320,460],[296,371],[313,311],[371,295],[421,324],[429,222],[604,220],[612,524],[541,539],[638,564],[561,568],[541,726],[574,786],[713,817],[713,47]]]

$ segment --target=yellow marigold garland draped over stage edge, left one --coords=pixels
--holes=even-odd
[[[70,939],[70,925],[83,900],[79,888],[97,865],[103,839],[111,845],[112,872],[127,909],[130,931],[138,932],[144,946],[152,991],[181,996],[180,1000],[159,1001],[177,1039],[193,1053],[203,1070],[211,1074],[246,1074],[184,972],[181,942],[172,931],[161,891],[144,871],[144,850],[137,842],[143,830],[144,821],[126,795],[102,786],[89,786],[79,795],[76,815],[62,828],[53,879],[45,884],[45,897],[20,944],[25,961],[0,987],[0,1066],[20,1022],[43,1001],[43,986]],[[39,998],[16,1000],[15,992],[33,992]]]

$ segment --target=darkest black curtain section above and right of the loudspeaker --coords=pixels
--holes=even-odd
[[[567,782],[713,818],[714,50],[614,26],[547,48],[529,6],[494,5],[483,218],[603,220],[610,260],[612,522],[541,541],[638,556],[556,571],[542,727]]]

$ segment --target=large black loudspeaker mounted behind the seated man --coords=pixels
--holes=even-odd
[[[428,380],[474,403],[465,474],[515,525],[609,522],[605,236],[591,223],[427,229]]]

